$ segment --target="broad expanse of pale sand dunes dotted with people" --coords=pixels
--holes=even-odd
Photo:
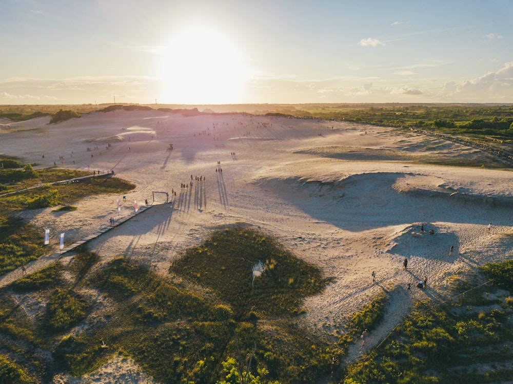
[[[358,343],[349,350],[348,361],[376,346],[412,300],[439,300],[453,273],[511,257],[511,205],[504,203],[513,201],[510,172],[411,162],[426,155],[487,156],[460,144],[348,122],[243,115],[184,118],[116,111],[60,124],[48,121],[0,126],[0,153],[44,167],[55,161],[70,168],[114,170],[137,184],[120,213],[115,200],[121,195],[77,201],[79,209],[65,214],[51,209],[25,214],[51,228],[54,247],[61,231],[67,240],[79,240],[110,217],[125,215],[133,200],[151,203],[151,191],[174,188],[174,207],[155,206],[90,247],[105,261],[125,255],[165,275],[175,252],[202,241],[213,227],[234,222],[260,227],[334,278],[323,294],[305,300],[303,319],[320,331],[334,332],[334,325],[344,324],[378,292],[399,287],[383,325],[365,347]],[[173,151],[167,150],[171,143]],[[215,172],[218,161],[222,173]],[[193,180],[192,188],[182,191],[180,184],[190,182],[191,174],[206,181]],[[435,234],[420,233],[421,223]],[[449,255],[451,245],[455,253]],[[405,257],[408,271],[402,270]],[[424,276],[428,289],[420,290],[415,285]],[[101,370],[109,375],[93,381],[133,375],[133,363],[120,361],[114,359]]]

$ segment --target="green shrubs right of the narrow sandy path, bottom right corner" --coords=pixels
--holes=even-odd
[[[511,284],[510,272],[501,268],[502,263],[487,265],[496,278],[500,275]],[[468,289],[465,283],[457,282],[456,293]],[[347,369],[342,382],[463,384],[510,379],[511,298],[501,294],[490,299],[496,287],[472,284],[478,287],[450,304],[419,303],[378,350]]]

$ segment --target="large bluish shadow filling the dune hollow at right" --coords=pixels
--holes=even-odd
[[[405,176],[404,173],[368,173],[329,182],[291,178],[269,183],[288,184],[290,191],[281,192],[280,197],[296,204],[310,217],[348,231],[420,221],[482,224],[483,228],[489,222],[510,224],[505,218],[513,214],[513,198],[454,194],[451,189],[447,193],[394,189],[396,181]],[[269,188],[265,184],[262,187]],[[415,209],[404,209],[406,206]],[[362,214],[354,214],[359,207]],[[376,209],[369,209],[372,207]],[[506,214],[507,211],[510,213]]]

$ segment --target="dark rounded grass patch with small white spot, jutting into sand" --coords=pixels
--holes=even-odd
[[[253,279],[260,262],[263,272]],[[299,314],[301,297],[320,293],[328,283],[319,269],[243,225],[214,232],[182,254],[170,271],[214,290],[240,319],[251,311],[258,316]]]

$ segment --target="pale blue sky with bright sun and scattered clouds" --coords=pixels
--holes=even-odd
[[[513,103],[513,0],[0,0],[0,104]]]

